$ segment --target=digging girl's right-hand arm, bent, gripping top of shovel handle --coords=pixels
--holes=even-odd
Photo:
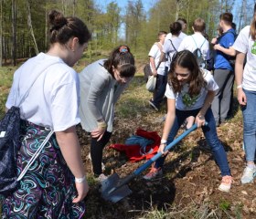
[[[206,115],[207,110],[210,107],[214,97],[215,97],[215,91],[208,90],[208,94],[204,101],[203,107],[201,108],[201,110],[199,110],[197,117],[196,117],[197,127],[201,127],[202,125],[205,124],[205,122],[206,122],[205,115]]]

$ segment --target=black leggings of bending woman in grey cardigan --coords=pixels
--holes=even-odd
[[[105,131],[101,141],[97,141],[98,138],[91,138],[91,162],[92,162],[92,171],[94,175],[98,176],[102,173],[101,162],[102,162],[102,153],[106,144],[110,141],[112,132]]]

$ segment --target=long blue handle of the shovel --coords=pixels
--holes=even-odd
[[[205,122],[205,126],[208,125],[208,122]],[[165,151],[170,150],[173,146],[176,145],[176,143],[178,143],[179,141],[181,141],[182,139],[184,139],[191,131],[193,130],[197,130],[197,123],[195,123],[190,129],[184,131],[180,136],[178,136],[174,141],[172,141],[171,143],[169,143],[166,147],[165,147]],[[147,169],[153,162],[155,162],[158,158],[160,158],[163,155],[162,152],[158,152],[155,154],[154,157],[152,157],[150,160],[148,160],[147,162],[145,162],[141,167],[139,167],[137,170],[135,170],[133,172],[133,175],[137,176],[139,175],[141,172],[144,172],[145,169]]]

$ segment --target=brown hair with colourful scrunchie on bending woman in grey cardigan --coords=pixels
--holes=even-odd
[[[108,70],[112,77],[112,67],[119,68],[120,76],[125,78],[133,77],[136,71],[133,54],[127,46],[114,48],[108,59],[104,61],[103,66]]]

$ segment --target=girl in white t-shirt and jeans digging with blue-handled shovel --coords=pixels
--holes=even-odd
[[[210,104],[215,96],[218,85],[208,70],[197,65],[197,59],[188,50],[178,52],[172,61],[168,75],[168,84],[165,91],[167,98],[167,115],[163,136],[158,151],[164,153],[166,144],[172,142],[180,126],[189,116],[196,118],[197,127],[202,127],[204,135],[211,147],[214,158],[219,165],[222,182],[219,190],[229,192],[232,177],[226,152],[217,136],[215,120],[210,109]],[[207,126],[204,126],[205,122]],[[159,158],[152,169],[145,176],[151,180],[162,174],[165,156]]]

